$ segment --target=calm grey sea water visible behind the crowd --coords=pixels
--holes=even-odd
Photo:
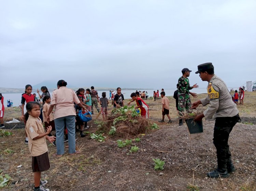
[[[147,91],[149,97],[153,96],[154,89],[141,89],[141,90],[137,89],[137,90],[138,91]],[[165,89],[166,96],[172,96],[175,90],[176,89]],[[131,93],[135,92],[135,91],[136,91],[136,89],[134,89],[134,90],[122,90],[122,93],[124,94],[125,99],[130,99]],[[159,91],[161,91],[161,89],[159,89]],[[109,91],[98,91],[100,97],[101,97],[102,92],[106,92],[106,95],[109,98]],[[207,90],[206,90],[206,88],[194,88],[192,90],[192,92],[207,93]],[[36,93],[38,95],[37,92],[32,92],[32,93]],[[40,94],[42,94],[42,92],[40,92]],[[52,92],[50,92],[50,94],[52,95]],[[4,97],[4,106],[5,107],[7,107],[7,100],[12,100],[13,106],[18,106],[19,101],[21,100],[22,93],[2,93],[2,95]],[[160,96],[160,92],[159,92],[159,96]]]

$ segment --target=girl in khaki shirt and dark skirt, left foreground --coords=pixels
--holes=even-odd
[[[50,168],[48,158],[48,148],[46,144],[47,139],[49,142],[55,141],[56,137],[47,136],[52,127],[48,126],[47,132],[44,133],[44,127],[40,116],[40,104],[37,102],[29,102],[26,105],[28,120],[26,122],[26,133],[28,135],[28,148],[32,155],[32,171],[34,173],[34,191],[49,191],[45,189],[44,185],[47,181],[41,180],[41,172]]]

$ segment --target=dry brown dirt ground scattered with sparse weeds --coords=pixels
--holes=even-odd
[[[205,95],[200,94],[199,97]],[[139,147],[138,152],[129,153],[130,146],[118,148],[117,138],[108,137],[100,143],[86,136],[77,139],[81,154],[68,156],[68,150],[65,149],[63,157],[55,158],[51,155],[56,152],[56,147],[49,143],[51,168],[42,173],[42,179],[48,180],[46,188],[51,191],[256,190],[255,98],[256,92],[245,93],[245,104],[238,106],[242,123],[234,126],[229,138],[237,171],[229,178],[211,179],[206,175],[217,165],[216,150],[212,143],[214,121],[203,120],[204,132],[190,136],[185,124],[178,125],[175,102],[169,97],[173,121],[170,125],[156,122],[161,119],[161,100],[146,100],[150,106],[150,120],[156,122],[160,129],[138,136],[140,142],[133,141]],[[5,119],[17,118],[19,112],[19,108],[8,108]],[[94,124],[95,117],[88,123],[91,126],[88,130],[90,133],[96,132],[98,128],[98,124]],[[102,117],[99,119],[102,120]],[[31,156],[28,146],[24,144],[24,125],[15,125],[5,124],[5,129],[14,135],[0,138],[0,170],[13,178],[3,190],[32,190]],[[7,154],[6,149],[14,152]],[[164,170],[154,170],[153,158],[165,161]],[[19,165],[22,167],[17,168]]]

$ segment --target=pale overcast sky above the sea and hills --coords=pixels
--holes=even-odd
[[[256,1],[0,0],[0,87],[63,79],[175,88],[212,62],[228,87],[255,81]]]

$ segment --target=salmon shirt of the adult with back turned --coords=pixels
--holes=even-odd
[[[80,103],[72,89],[62,86],[54,90],[51,98],[51,105],[55,104],[54,119],[65,116],[76,116],[74,102],[75,104]]]

